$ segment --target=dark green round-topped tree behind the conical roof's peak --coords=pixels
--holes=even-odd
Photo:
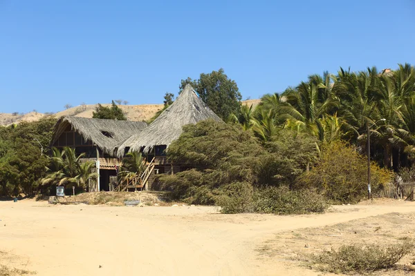
[[[228,119],[232,113],[239,113],[242,95],[237,83],[229,79],[222,68],[208,74],[202,73],[197,80],[189,77],[182,79],[180,90],[183,90],[188,83],[193,86],[209,108],[223,120]]]

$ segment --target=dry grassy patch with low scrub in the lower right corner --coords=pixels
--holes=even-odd
[[[385,275],[387,271],[387,275],[400,276],[415,273],[415,257],[409,254],[409,250],[403,242],[407,237],[414,237],[414,233],[415,213],[391,213],[367,219],[356,219],[324,228],[304,228],[279,233],[275,239],[267,241],[258,251],[259,256],[263,259],[281,259],[286,264],[296,264],[337,273],[342,270],[349,274],[356,272],[353,270],[347,272],[347,269],[334,267],[340,266],[340,264],[333,264],[332,267],[327,266],[327,262],[343,262],[344,266],[349,266],[351,262],[347,262],[347,260],[353,261],[354,258],[355,264],[358,264],[359,255],[367,256],[372,259],[371,264],[378,262],[378,264],[387,264],[384,267],[389,267],[387,270],[376,270],[372,275]],[[413,249],[413,245],[409,248]],[[373,254],[367,254],[367,250]],[[405,254],[402,258],[396,259],[395,265],[389,265],[394,263],[392,262],[395,261],[393,258],[389,259],[388,263],[382,262],[387,260],[388,256],[397,257],[398,254],[395,253],[398,251],[396,250]],[[317,259],[319,256],[323,256],[322,259],[327,260],[326,264],[321,265],[322,259],[320,259],[320,264],[317,264],[315,262],[316,256]],[[376,256],[379,257],[377,261]],[[374,270],[373,266],[367,267],[366,272]],[[381,268],[382,266],[377,267]],[[360,271],[361,273],[362,271]]]

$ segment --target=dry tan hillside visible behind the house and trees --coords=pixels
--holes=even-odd
[[[244,104],[257,106],[259,99],[248,99],[243,101]],[[62,116],[77,116],[91,118],[92,112],[95,110],[95,104],[88,104],[84,106],[75,106],[66,110],[57,112],[55,116],[57,118]],[[111,104],[102,104],[102,106],[111,106]],[[124,111],[129,121],[146,121],[156,114],[158,110],[163,108],[161,104],[142,104],[137,106],[119,106]],[[45,117],[46,114],[39,112],[29,112],[24,115],[11,114],[11,113],[0,113],[0,126],[7,126],[20,121],[37,121],[38,119]]]

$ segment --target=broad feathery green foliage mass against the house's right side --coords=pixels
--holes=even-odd
[[[212,120],[183,128],[167,151],[169,160],[194,169],[161,181],[176,199],[214,204],[223,197],[251,197],[252,188],[292,186],[317,158],[317,139],[284,130],[261,143],[241,126]],[[245,191],[245,192],[242,192]]]

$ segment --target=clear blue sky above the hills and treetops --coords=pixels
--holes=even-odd
[[[243,99],[313,73],[415,64],[415,0],[0,0],[0,112],[161,103],[224,68]]]

